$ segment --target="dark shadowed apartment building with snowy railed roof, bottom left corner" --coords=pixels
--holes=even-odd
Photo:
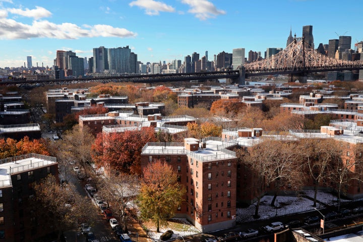
[[[33,241],[49,233],[29,206],[32,183],[48,174],[58,177],[55,157],[27,154],[0,160],[1,241]]]

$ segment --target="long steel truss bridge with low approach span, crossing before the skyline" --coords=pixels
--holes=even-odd
[[[308,73],[361,70],[363,61],[343,61],[329,58],[313,49],[305,46],[304,37],[294,40],[282,51],[270,58],[253,62],[238,67],[237,70],[222,72],[198,72],[178,74],[153,74],[153,75],[123,75],[114,77],[97,78],[72,78],[72,79],[47,79],[47,80],[6,80],[0,85],[18,86],[44,86],[44,85],[68,85],[86,82],[132,82],[132,83],[156,83],[156,82],[183,82],[198,80],[229,79],[232,82],[245,84],[245,78],[252,76],[291,74],[306,76]]]

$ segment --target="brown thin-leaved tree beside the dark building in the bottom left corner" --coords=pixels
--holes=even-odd
[[[61,241],[63,231],[74,228],[79,221],[87,218],[95,221],[94,206],[87,197],[82,197],[72,184],[59,186],[56,178],[48,175],[33,185],[35,197],[31,210],[41,218],[42,229],[57,231],[57,241]]]

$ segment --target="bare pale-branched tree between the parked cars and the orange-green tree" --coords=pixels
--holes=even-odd
[[[140,189],[139,177],[111,171],[107,177],[98,180],[98,194],[112,205],[113,214],[121,218],[125,231],[128,232],[128,220],[135,215],[132,204]]]

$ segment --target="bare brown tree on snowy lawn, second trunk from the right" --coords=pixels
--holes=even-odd
[[[334,170],[334,163],[341,162],[343,147],[339,141],[327,138],[306,138],[301,139],[300,145],[296,147],[300,150],[299,159],[305,164],[305,169],[309,172],[314,184],[314,207],[317,202],[318,187],[323,181],[331,178]]]

